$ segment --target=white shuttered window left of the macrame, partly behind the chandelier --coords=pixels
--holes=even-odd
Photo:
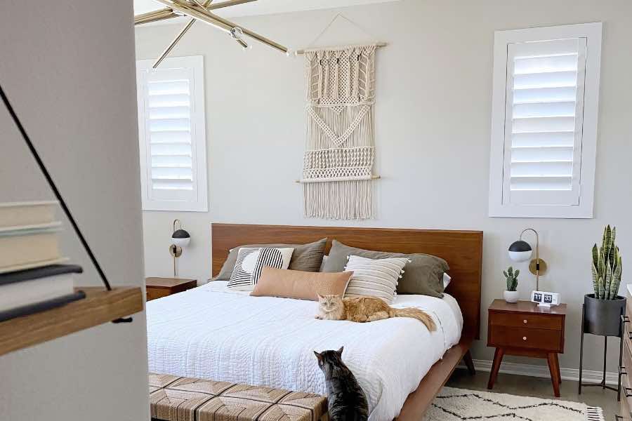
[[[143,210],[209,210],[202,56],[136,62]]]

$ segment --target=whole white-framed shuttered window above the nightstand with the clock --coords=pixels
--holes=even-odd
[[[601,33],[496,32],[490,216],[593,217]]]

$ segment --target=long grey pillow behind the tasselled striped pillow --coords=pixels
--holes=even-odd
[[[347,256],[355,255],[369,259],[409,258],[404,267],[404,276],[397,285],[398,294],[421,294],[430,297],[443,297],[443,274],[449,267],[442,258],[421,253],[403,254],[388,251],[364,250],[345,246],[334,240],[331,243],[329,257],[324,263],[322,272],[343,272],[347,265]]]

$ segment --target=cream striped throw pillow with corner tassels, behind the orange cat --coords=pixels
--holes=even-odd
[[[353,272],[345,297],[371,296],[389,304],[397,294],[397,282],[404,273],[407,258],[369,259],[349,256],[345,271]]]

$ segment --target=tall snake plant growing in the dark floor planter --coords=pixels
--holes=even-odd
[[[603,230],[601,247],[593,246],[593,288],[595,298],[614,300],[619,294],[621,284],[621,255],[619,247],[614,243],[617,228],[610,225]]]

